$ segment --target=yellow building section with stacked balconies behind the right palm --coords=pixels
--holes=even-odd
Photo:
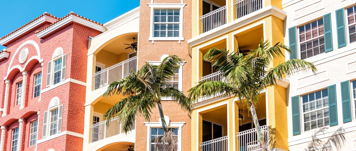
[[[203,60],[212,47],[230,52],[256,49],[260,40],[271,44],[284,41],[281,0],[193,0],[192,39],[188,40],[192,56],[192,87],[199,81],[220,80],[220,74]],[[284,62],[281,57],[270,67]],[[268,148],[288,150],[287,96],[288,81],[269,86],[256,106],[257,117]],[[204,97],[192,112],[192,151],[216,150],[250,151],[259,142],[253,128],[252,116],[239,99]],[[263,126],[266,125],[266,126]]]

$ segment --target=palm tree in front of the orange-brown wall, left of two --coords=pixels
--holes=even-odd
[[[121,121],[122,130],[125,133],[133,128],[136,116],[142,116],[146,121],[151,119],[151,111],[158,106],[161,116],[162,128],[168,131],[162,110],[162,97],[171,97],[172,100],[179,102],[184,111],[192,110],[192,103],[177,88],[170,87],[175,71],[183,64],[183,60],[176,55],[171,55],[158,65],[146,63],[136,73],[116,82],[112,82],[104,96],[125,95],[104,115],[106,125],[109,125],[110,118],[118,116]],[[134,92],[136,95],[134,95]]]

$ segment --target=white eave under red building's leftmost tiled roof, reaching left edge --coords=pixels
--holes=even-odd
[[[29,30],[31,30],[32,28],[42,24],[43,22],[51,22],[54,23],[56,21],[58,21],[58,19],[53,18],[53,17],[49,17],[47,15],[42,16],[41,18],[36,19],[36,21],[33,21],[32,23],[26,25],[25,27],[17,30],[16,32],[12,33],[11,35],[5,37],[4,39],[0,40],[0,45],[5,45],[6,43],[8,43],[9,41],[15,39],[16,37],[20,36],[23,33],[28,32]]]

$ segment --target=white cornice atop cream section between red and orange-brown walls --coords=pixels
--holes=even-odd
[[[135,9],[128,11],[128,12],[120,15],[119,17],[116,17],[115,19],[112,19],[111,21],[105,23],[104,27],[106,27],[106,29],[110,30],[112,28],[115,28],[117,26],[125,24],[137,17],[140,17],[140,6],[138,6]]]

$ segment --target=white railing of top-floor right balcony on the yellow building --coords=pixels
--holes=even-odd
[[[236,19],[263,8],[263,0],[236,0]]]

